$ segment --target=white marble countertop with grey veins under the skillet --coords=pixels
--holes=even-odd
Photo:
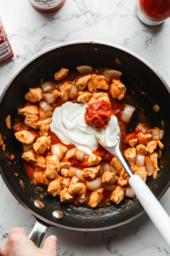
[[[98,39],[131,49],[170,84],[170,20],[158,27],[144,26],[133,7],[134,0],[66,0],[58,13],[47,15],[33,9],[28,0],[2,1],[0,15],[14,58],[0,65],[0,93],[31,56],[49,46],[77,39]],[[170,214],[169,196],[168,189],[161,204]],[[20,226],[29,234],[34,223],[35,218],[14,199],[0,177],[0,246],[6,241],[8,230]],[[59,256],[170,254],[170,248],[146,215],[116,230],[87,234],[51,227],[46,236],[50,234],[58,236]]]

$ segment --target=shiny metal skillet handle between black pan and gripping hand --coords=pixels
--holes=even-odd
[[[37,222],[34,225],[33,230],[31,230],[31,234],[28,236],[28,238],[30,238],[37,247],[40,247],[43,236],[45,235],[47,230],[48,224],[45,224],[44,222],[37,219]]]

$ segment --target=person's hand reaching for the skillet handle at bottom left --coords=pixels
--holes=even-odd
[[[42,249],[35,246],[21,228],[8,232],[8,241],[0,247],[0,256],[57,256],[57,237],[48,236]]]

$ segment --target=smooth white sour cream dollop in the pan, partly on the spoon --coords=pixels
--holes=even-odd
[[[65,102],[61,107],[55,108],[50,124],[51,131],[65,145],[73,144],[85,154],[91,154],[99,147],[95,136],[100,138],[102,143],[113,146],[119,139],[119,126],[116,116],[111,116],[109,125],[102,130],[96,130],[93,126],[87,125],[84,120],[84,113],[88,105]]]

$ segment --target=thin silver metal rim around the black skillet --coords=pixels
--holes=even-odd
[[[26,61],[25,64],[23,64],[13,75],[12,79],[10,79],[10,81],[8,82],[8,84],[5,86],[5,88],[3,89],[3,92],[0,96],[0,104],[3,100],[3,96],[5,95],[6,91],[8,90],[8,87],[10,86],[10,84],[12,84],[13,80],[16,78],[16,76],[27,66],[31,63],[31,61],[34,61],[35,59],[37,59],[39,56],[43,55],[43,54],[46,54],[48,51],[51,51],[53,49],[58,49],[58,48],[61,48],[61,47],[64,47],[64,46],[67,46],[67,45],[71,45],[71,44],[90,44],[90,42],[92,42],[92,40],[76,40],[76,41],[69,41],[69,42],[66,42],[66,43],[62,43],[62,44],[57,44],[57,45],[54,45],[52,47],[49,47],[48,49],[44,49],[42,50],[40,53],[38,53],[37,55],[34,55],[33,57],[31,57],[31,59],[29,59],[28,61]],[[111,46],[111,47],[114,47],[116,49],[122,49],[122,51],[125,51],[127,52],[128,54],[130,55],[133,55],[135,58],[139,59],[139,61],[142,61],[147,67],[150,67],[150,69],[156,73],[156,76],[161,79],[161,82],[165,85],[165,87],[167,88],[167,91],[170,93],[170,87],[168,86],[167,82],[165,79],[163,79],[163,77],[161,76],[160,73],[158,73],[156,71],[156,69],[154,67],[152,67],[150,65],[150,63],[148,61],[145,61],[142,57],[140,57],[139,55],[133,53],[133,51],[129,50],[129,49],[125,49],[124,47],[122,46],[119,46],[117,44],[111,44],[111,43],[108,43],[108,42],[105,42],[105,41],[98,41],[98,40],[93,40],[94,44],[103,44],[103,45],[106,45],[106,46]],[[54,223],[52,221],[48,221],[46,218],[42,218],[42,216],[38,215],[36,212],[33,212],[29,207],[26,206],[26,204],[20,200],[20,198],[18,197],[18,195],[16,195],[13,191],[13,189],[10,188],[9,184],[8,184],[8,181],[7,179],[4,177],[3,175],[3,170],[0,166],[0,173],[1,173],[1,176],[3,177],[3,181],[6,183],[9,191],[11,192],[12,195],[14,195],[15,199],[17,201],[20,202],[20,204],[26,208],[26,210],[28,212],[30,212],[31,214],[33,214],[36,218],[39,218],[40,220],[42,220],[44,223],[48,224],[48,225],[53,225],[53,226],[56,226],[56,227],[59,227],[59,228],[64,228],[66,230],[75,230],[75,231],[101,231],[101,230],[111,230],[111,229],[114,229],[116,227],[119,227],[119,226],[122,226],[124,224],[128,224],[130,222],[132,222],[134,219],[136,218],[139,218],[141,215],[144,214],[144,210],[142,212],[140,212],[139,214],[135,215],[133,218],[129,218],[127,219],[126,221],[120,223],[120,224],[114,224],[114,225],[111,225],[111,226],[108,226],[108,227],[104,227],[104,228],[97,228],[97,229],[82,229],[82,228],[72,228],[72,227],[67,227],[65,225],[62,225],[62,224],[57,224],[57,223]],[[169,183],[167,183],[167,186],[165,187],[165,189],[163,189],[163,191],[161,192],[161,195],[159,195],[157,197],[158,200],[161,199],[162,195],[165,194],[165,192],[167,191],[167,189],[169,188],[169,185],[170,185],[170,181]]]

